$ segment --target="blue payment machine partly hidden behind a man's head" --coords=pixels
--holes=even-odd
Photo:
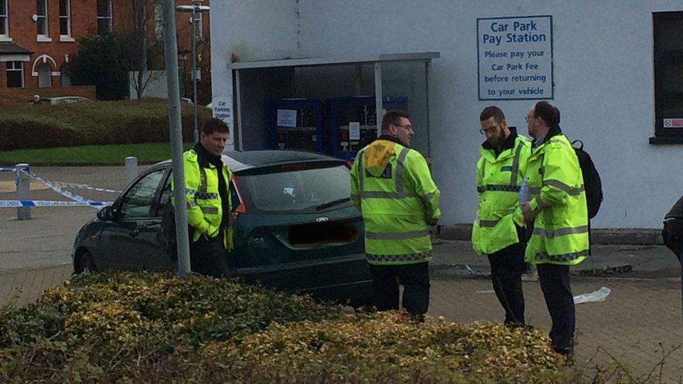
[[[358,150],[379,136],[381,117],[377,118],[375,98],[371,96],[337,97],[325,101],[329,111],[331,154],[353,160]],[[387,111],[408,111],[406,97],[383,97]],[[379,121],[378,121],[379,120]]]

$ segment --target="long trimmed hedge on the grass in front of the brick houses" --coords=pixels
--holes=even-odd
[[[193,108],[183,103],[183,138],[192,141]],[[211,118],[199,107],[199,127]],[[167,101],[95,101],[0,108],[0,150],[169,141]]]

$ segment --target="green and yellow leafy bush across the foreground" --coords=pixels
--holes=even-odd
[[[542,332],[348,314],[253,285],[169,273],[77,276],[0,308],[0,382],[564,381]]]

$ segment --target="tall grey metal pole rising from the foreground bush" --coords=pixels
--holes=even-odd
[[[190,272],[190,239],[188,236],[188,207],[185,204],[185,169],[183,169],[183,129],[181,122],[181,92],[178,86],[178,45],[176,45],[176,10],[174,0],[163,0],[164,57],[166,58],[169,88],[169,125],[171,131],[171,161],[173,162],[173,197],[176,201],[176,242],[178,244],[178,272]]]

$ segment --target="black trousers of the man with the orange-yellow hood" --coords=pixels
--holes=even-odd
[[[403,308],[411,315],[421,316],[429,307],[429,263],[405,265],[373,265],[372,290],[374,306],[379,311],[398,309],[398,285],[403,285]]]

